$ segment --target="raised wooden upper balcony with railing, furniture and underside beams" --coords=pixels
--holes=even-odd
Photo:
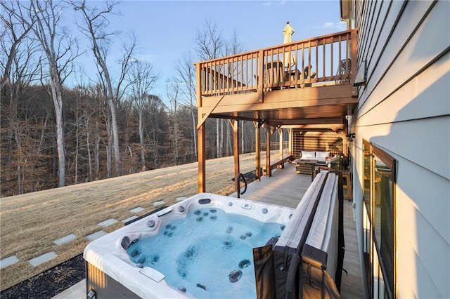
[[[197,62],[199,126],[207,117],[218,117],[264,120],[271,126],[342,127],[358,102],[356,33]]]

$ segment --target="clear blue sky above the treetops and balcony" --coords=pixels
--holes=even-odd
[[[101,1],[91,2],[101,5]],[[147,60],[162,75],[154,94],[165,96],[165,81],[174,74],[174,63],[195,48],[195,35],[205,21],[215,23],[225,39],[236,30],[245,51],[283,43],[287,21],[295,29],[293,41],[345,30],[340,21],[340,2],[333,1],[122,1],[120,15],[111,19],[111,29],[121,35],[113,41],[120,47],[121,36],[134,32],[139,58]],[[80,43],[82,44],[82,43]],[[91,53],[84,55],[86,72]]]

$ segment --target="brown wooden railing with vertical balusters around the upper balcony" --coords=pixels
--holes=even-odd
[[[200,96],[349,84],[356,62],[356,29],[197,62]],[[354,67],[354,71],[355,71]]]

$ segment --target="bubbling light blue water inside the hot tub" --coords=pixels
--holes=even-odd
[[[197,298],[227,293],[255,298],[252,248],[279,237],[283,229],[220,208],[198,208],[131,244],[127,253],[139,267],[158,270],[169,285]]]

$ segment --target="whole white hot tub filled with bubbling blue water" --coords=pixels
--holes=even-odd
[[[210,282],[204,281],[208,276],[214,277],[214,275],[220,273],[219,265],[222,267],[224,260],[230,260],[231,265],[226,266],[226,269],[223,270],[226,272],[225,279],[229,279],[229,284],[221,289],[220,295],[221,297],[248,297],[248,293],[240,295],[239,292],[248,292],[248,289],[244,290],[245,288],[255,289],[255,284],[250,284],[250,281],[255,281],[252,258],[237,257],[237,260],[216,258],[208,262],[209,266],[206,269],[199,270],[201,272],[195,272],[196,270],[188,268],[185,265],[186,259],[192,258],[191,255],[194,255],[194,253],[198,254],[199,257],[200,255],[208,255],[209,249],[199,245],[199,242],[204,241],[203,244],[207,246],[208,239],[213,239],[215,234],[211,238],[208,237],[207,228],[210,226],[209,223],[212,225],[217,221],[217,215],[220,215],[219,218],[222,218],[221,215],[227,215],[227,217],[236,215],[238,219],[234,222],[231,220],[231,225],[220,229],[220,233],[229,238],[221,241],[219,245],[221,246],[219,250],[223,250],[223,256],[226,257],[225,253],[230,246],[238,247],[246,244],[250,239],[256,239],[257,234],[259,234],[259,232],[245,231],[247,226],[245,221],[247,220],[243,220],[245,218],[242,218],[242,216],[248,217],[251,221],[257,220],[263,230],[267,226],[271,227],[269,233],[262,234],[262,239],[250,244],[250,246],[258,247],[264,246],[271,239],[272,234],[272,237],[280,237],[281,231],[283,231],[294,211],[294,208],[262,204],[234,197],[207,193],[197,194],[96,239],[86,246],[84,250],[86,291],[90,292],[91,295],[95,293],[96,298],[114,298],[117,295],[120,295],[121,298],[217,297],[217,290],[216,293],[208,293],[210,290],[214,291],[214,287],[210,286]],[[194,244],[181,245],[167,241],[168,247],[181,252],[176,255],[181,258],[179,260],[175,258],[174,260],[177,271],[181,275],[181,280],[176,280],[176,285],[173,285],[170,281],[174,281],[174,279],[169,278],[169,275],[172,275],[170,274],[172,270],[169,270],[171,266],[160,265],[160,260],[163,259],[160,258],[160,255],[154,253],[146,255],[140,251],[142,248],[156,245],[157,242],[158,244],[161,243],[167,237],[172,237],[172,234],[180,229],[180,227],[174,228],[176,225],[172,224],[182,223],[181,220],[190,217],[195,219],[194,227],[198,228],[192,229],[188,233],[184,232],[183,235],[184,239],[188,242],[192,240]],[[200,226],[200,222],[203,223],[203,226]],[[279,232],[273,231],[274,225],[279,227]],[[234,237],[233,234],[235,234]],[[158,237],[159,239],[150,239],[155,241],[153,243],[152,241],[148,242],[148,239],[152,237]],[[147,243],[145,243],[146,240]],[[138,249],[137,244],[143,245]],[[163,248],[161,253],[169,250],[169,248],[164,247],[165,244],[158,246]],[[252,256],[251,248],[249,255]],[[156,267],[157,265],[158,267]],[[198,282],[193,280],[193,277],[195,279],[198,277]],[[221,277],[224,277],[224,275],[221,274]],[[255,295],[252,297],[255,297]]]

